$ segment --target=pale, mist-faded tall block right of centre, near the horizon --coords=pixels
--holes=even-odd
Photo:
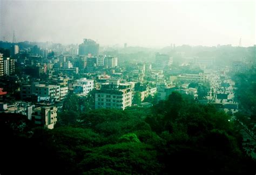
[[[166,54],[156,53],[156,64],[154,69],[163,70],[172,65],[172,57]]]

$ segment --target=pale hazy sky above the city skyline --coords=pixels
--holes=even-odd
[[[100,45],[255,44],[255,1],[4,1],[0,40]]]

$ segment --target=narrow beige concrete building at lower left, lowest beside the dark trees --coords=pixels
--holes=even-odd
[[[36,108],[31,116],[31,120],[35,124],[43,125],[45,128],[53,129],[57,122],[57,110],[56,107],[39,107]]]

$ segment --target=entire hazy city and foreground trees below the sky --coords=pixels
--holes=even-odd
[[[9,32],[0,174],[256,173],[256,45],[60,44]]]

